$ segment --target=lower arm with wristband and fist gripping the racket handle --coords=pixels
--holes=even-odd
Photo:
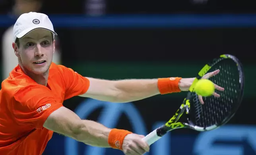
[[[43,127],[91,146],[120,149],[126,155],[143,155],[149,151],[141,135],[109,129],[95,121],[81,120],[76,113],[63,106],[48,116]]]

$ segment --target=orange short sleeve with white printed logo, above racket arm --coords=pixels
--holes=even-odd
[[[14,119],[19,125],[42,129],[48,116],[60,108],[50,89],[43,85],[29,85],[19,89],[12,97]]]

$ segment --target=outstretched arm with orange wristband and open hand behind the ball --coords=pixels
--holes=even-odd
[[[204,78],[215,76],[219,70],[208,73]],[[208,77],[209,76],[209,77]],[[105,80],[87,77],[90,81],[89,89],[83,97],[94,98],[109,102],[132,102],[142,100],[158,94],[188,91],[195,78],[158,78],[158,79],[124,79]],[[217,90],[224,89],[215,85]],[[213,94],[219,97],[217,93]],[[203,103],[202,100],[200,100]]]

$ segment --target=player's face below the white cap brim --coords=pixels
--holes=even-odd
[[[19,64],[26,72],[45,74],[48,72],[55,49],[52,42],[52,33],[45,29],[36,29],[19,39],[19,48],[16,47],[16,56]]]

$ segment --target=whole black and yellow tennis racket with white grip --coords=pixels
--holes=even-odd
[[[205,74],[219,69],[218,75],[211,77],[213,83],[224,87],[225,91],[215,90],[221,96],[203,97],[201,104],[198,95],[194,93],[194,86]],[[197,131],[217,129],[227,123],[240,106],[244,90],[244,73],[239,60],[229,54],[221,55],[206,64],[194,79],[180,108],[171,119],[161,127],[153,130],[143,138],[150,146],[167,132],[175,129],[188,128]],[[186,113],[185,122],[178,122]]]

